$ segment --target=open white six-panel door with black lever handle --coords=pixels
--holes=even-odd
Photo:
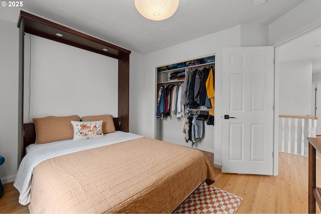
[[[273,60],[273,47],[223,50],[222,172],[273,175]]]

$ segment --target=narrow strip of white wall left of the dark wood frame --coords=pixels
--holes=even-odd
[[[15,179],[18,164],[19,10],[0,8],[0,166],[3,183]]]

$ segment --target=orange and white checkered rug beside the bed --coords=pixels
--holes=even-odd
[[[235,213],[243,198],[202,183],[174,213]]]

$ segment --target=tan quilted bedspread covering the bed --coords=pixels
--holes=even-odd
[[[51,158],[34,169],[32,213],[169,213],[214,173],[199,150],[150,138]]]

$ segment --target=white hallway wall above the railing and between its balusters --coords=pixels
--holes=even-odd
[[[282,54],[282,47],[280,54]],[[311,59],[279,63],[279,114],[285,115],[314,115],[312,112],[312,63]],[[289,126],[284,119],[284,151],[288,151]],[[295,124],[291,120],[290,152],[294,153]],[[308,136],[308,120],[305,119],[304,136]],[[297,152],[301,153],[301,119],[297,122]],[[278,119],[278,146],[282,148],[282,119]],[[307,141],[304,138],[305,148]],[[304,154],[307,155],[306,151]]]

